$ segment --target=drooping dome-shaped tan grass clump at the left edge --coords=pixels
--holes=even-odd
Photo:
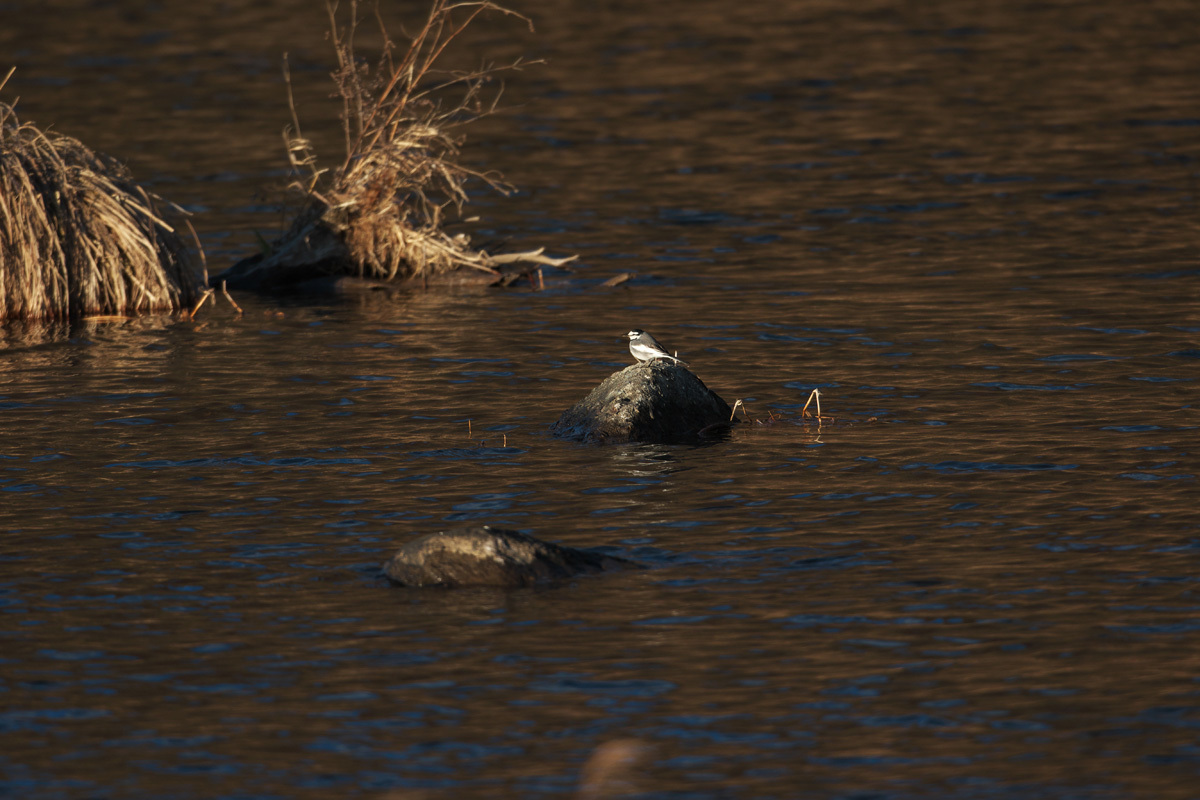
[[[0,103],[0,320],[191,305],[194,263],[160,204],[116,161]]]

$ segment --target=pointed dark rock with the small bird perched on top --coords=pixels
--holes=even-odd
[[[732,425],[730,405],[683,365],[658,360],[608,375],[551,432],[580,441],[698,441]]]

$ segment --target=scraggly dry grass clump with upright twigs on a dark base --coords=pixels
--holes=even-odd
[[[346,157],[332,172],[319,168],[293,104],[293,125],[284,131],[284,142],[299,176],[293,187],[304,193],[305,207],[270,252],[246,259],[220,278],[230,287],[277,288],[330,275],[428,281],[468,270],[478,279],[492,281],[500,276],[502,265],[571,260],[548,258],[541,249],[493,255],[473,248],[464,234],[451,236],[444,230],[449,212],[462,215],[468,181],[481,180],[504,194],[512,190],[499,175],[458,161],[458,132],[494,110],[498,92],[490,102],[484,95],[497,74],[524,62],[518,59],[473,71],[444,71],[436,65],[480,14],[526,18],[486,0],[433,0],[425,25],[398,54],[377,13],[384,46],[371,67],[355,53],[358,2],[349,2],[344,26],[338,24],[337,4],[328,2],[326,8],[337,56],[332,77],[342,101]]]

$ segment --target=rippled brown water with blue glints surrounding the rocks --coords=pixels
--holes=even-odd
[[[281,52],[336,145],[308,5],[2,4],[5,98],[222,266]],[[545,291],[0,333],[0,796],[572,796],[618,739],[655,798],[1196,796],[1193,5],[523,10],[467,154],[522,187],[479,241],[581,254]],[[785,419],[550,438],[631,326]],[[653,569],[378,577],[474,523]]]

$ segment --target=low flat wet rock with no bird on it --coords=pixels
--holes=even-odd
[[[604,572],[632,561],[595,551],[544,542],[515,530],[460,528],[415,539],[384,564],[406,587],[499,587],[516,589]]]

